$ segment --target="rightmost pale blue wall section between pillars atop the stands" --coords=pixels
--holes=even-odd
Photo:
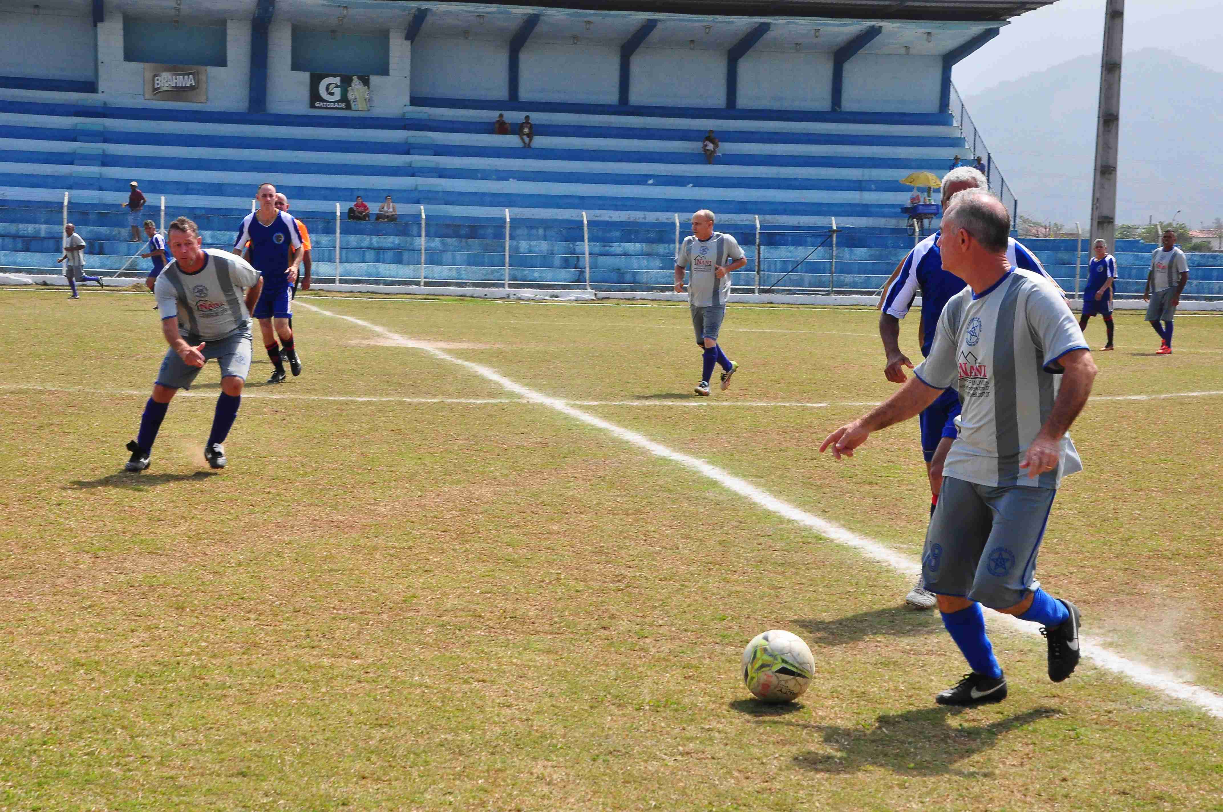
[[[942,56],[859,54],[845,62],[841,110],[938,113]]]

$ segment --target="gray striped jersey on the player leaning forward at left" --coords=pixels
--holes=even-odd
[[[251,329],[242,289],[254,287],[259,271],[246,259],[205,248],[204,267],[193,274],[170,260],[153,284],[161,320],[179,319],[179,335],[191,344],[219,341]]]

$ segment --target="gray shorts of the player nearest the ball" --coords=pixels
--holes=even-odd
[[[1053,488],[991,488],[943,477],[922,550],[926,588],[991,609],[1020,603],[1040,587],[1036,553],[1055,494]]]

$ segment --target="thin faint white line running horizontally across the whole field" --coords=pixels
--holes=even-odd
[[[344,317],[341,317],[344,318]],[[419,349],[416,344],[406,344],[413,349]],[[86,395],[138,395],[146,396],[148,390],[139,389],[87,389],[83,386],[38,386],[33,384],[0,384],[0,391],[26,390],[26,391],[73,391]],[[212,391],[180,391],[177,397],[212,397]],[[1167,397],[1211,397],[1223,395],[1219,391],[1179,391],[1161,395],[1099,395],[1091,400],[1164,400]],[[394,402],[394,404],[528,404],[537,405],[541,401],[522,397],[390,397],[390,396],[361,396],[361,395],[297,395],[283,393],[260,393],[243,390],[242,397],[259,397],[264,400],[330,400],[352,402]],[[837,406],[878,406],[877,400],[837,400],[837,401],[786,401],[786,400],[706,400],[696,396],[689,400],[564,400],[554,399],[556,402],[570,406],[681,406],[687,408],[714,408],[718,406],[745,406],[745,407],[773,407],[773,408],[832,408]]]

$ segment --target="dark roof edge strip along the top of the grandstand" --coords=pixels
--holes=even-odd
[[[479,0],[456,0],[479,2]],[[1005,21],[1055,0],[517,0],[537,9],[634,11],[723,17]]]

